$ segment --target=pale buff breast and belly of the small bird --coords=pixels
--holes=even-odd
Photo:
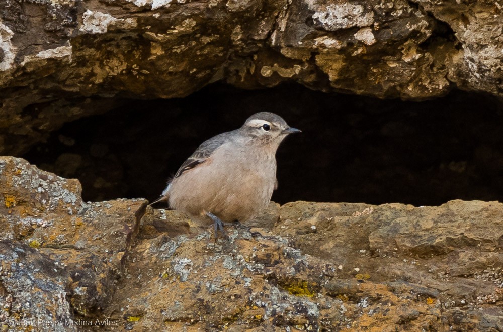
[[[250,163],[241,162],[243,158],[237,156],[226,158],[226,165],[208,167],[218,160],[217,157],[172,181],[168,190],[170,206],[188,214],[197,224],[212,223],[206,212],[215,214],[224,222],[239,220],[245,223],[271,200],[276,162],[257,162],[250,167]]]

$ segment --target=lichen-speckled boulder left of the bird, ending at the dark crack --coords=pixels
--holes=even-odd
[[[3,300],[9,296],[17,299],[18,292],[29,293],[29,287],[38,287],[41,292],[56,289],[54,296],[60,304],[71,307],[71,314],[62,317],[54,312],[54,319],[72,319],[73,312],[88,317],[101,310],[121,275],[123,257],[138,232],[145,200],[83,203],[77,180],[60,178],[10,157],[0,157],[0,188],[0,241],[8,249],[3,259],[7,264],[2,270],[4,280],[8,284],[17,275],[37,272],[27,279],[31,282],[14,290],[4,285]],[[38,271],[41,266],[44,268]],[[55,266],[54,273],[46,275],[50,266]],[[40,317],[20,306],[3,318]]]

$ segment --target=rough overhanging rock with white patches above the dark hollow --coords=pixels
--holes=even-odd
[[[111,98],[222,80],[421,99],[503,95],[502,2],[4,0],[0,153],[20,155]],[[109,98],[108,101],[102,98]]]

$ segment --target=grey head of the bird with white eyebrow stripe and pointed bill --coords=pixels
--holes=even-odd
[[[275,147],[278,147],[288,134],[300,133],[300,130],[288,126],[283,118],[270,112],[260,112],[249,117],[240,131],[251,137],[253,142]]]

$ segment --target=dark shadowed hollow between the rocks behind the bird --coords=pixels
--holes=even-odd
[[[503,195],[503,102],[486,94],[454,90],[413,102],[293,84],[264,90],[214,84],[186,98],[118,105],[65,124],[22,157],[78,178],[85,200],[153,200],[200,143],[267,110],[303,131],[278,151],[276,202],[420,206]]]

